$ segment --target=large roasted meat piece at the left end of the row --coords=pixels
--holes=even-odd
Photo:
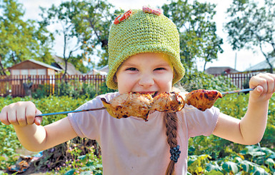
[[[111,116],[117,119],[137,116],[147,121],[153,98],[150,94],[129,92],[116,96],[111,101],[101,98]]]

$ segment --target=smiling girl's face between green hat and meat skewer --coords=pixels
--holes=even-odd
[[[129,91],[159,94],[171,91],[173,68],[166,54],[136,54],[119,66],[114,79],[119,94]]]

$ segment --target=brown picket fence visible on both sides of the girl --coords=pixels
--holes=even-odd
[[[237,73],[237,74],[215,74],[214,76],[223,76],[229,79],[239,89],[247,88],[249,79],[257,73]],[[106,76],[102,75],[66,75],[64,79],[60,75],[18,75],[18,76],[0,76],[0,96],[26,96],[24,84],[30,84],[31,91],[39,88],[39,85],[48,85],[49,94],[54,94],[62,81],[66,81],[70,86],[76,86],[76,83],[89,84],[99,90],[105,83]]]

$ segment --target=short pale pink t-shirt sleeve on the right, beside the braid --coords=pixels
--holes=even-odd
[[[213,133],[219,119],[220,111],[216,107],[200,111],[194,107],[186,110],[186,123],[189,137],[209,136]]]

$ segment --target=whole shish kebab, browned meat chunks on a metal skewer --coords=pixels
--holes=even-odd
[[[157,96],[129,92],[114,97],[111,101],[107,102],[106,99],[101,98],[104,107],[96,109],[81,109],[76,111],[62,111],[48,114],[39,114],[37,116],[49,116],[57,114],[69,114],[84,111],[96,111],[106,109],[111,116],[116,119],[127,118],[129,116],[136,116],[147,121],[149,111],[164,111],[176,112],[181,111],[185,104],[196,107],[201,111],[210,109],[217,99],[222,98],[226,94],[233,94],[245,91],[253,91],[254,89],[241,89],[236,91],[219,92],[216,90],[194,90],[184,96],[178,92],[164,92]]]

